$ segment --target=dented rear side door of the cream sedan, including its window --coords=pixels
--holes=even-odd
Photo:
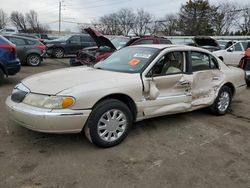
[[[216,58],[198,51],[190,52],[193,82],[191,85],[192,107],[212,104],[216,90],[223,81]]]

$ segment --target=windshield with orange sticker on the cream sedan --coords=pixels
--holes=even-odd
[[[117,72],[139,73],[158,51],[159,49],[156,48],[126,47],[97,63],[95,68]]]

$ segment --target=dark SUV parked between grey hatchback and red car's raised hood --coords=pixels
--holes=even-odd
[[[67,35],[46,42],[48,56],[62,58],[64,55],[75,55],[82,48],[95,46],[95,41],[88,34]]]

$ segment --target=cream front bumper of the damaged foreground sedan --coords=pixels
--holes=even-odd
[[[91,110],[50,110],[15,103],[10,96],[6,99],[11,118],[22,126],[45,133],[81,132]]]

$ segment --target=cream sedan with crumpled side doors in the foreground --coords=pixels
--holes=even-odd
[[[123,48],[94,68],[74,67],[24,79],[6,100],[11,117],[47,133],[85,131],[100,147],[120,143],[133,122],[210,107],[227,112],[246,88],[244,71],[191,46]]]

